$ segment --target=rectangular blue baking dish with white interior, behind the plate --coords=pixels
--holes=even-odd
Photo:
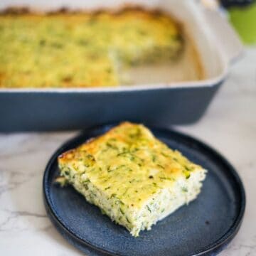
[[[32,1],[2,0],[0,9],[28,6],[41,10],[118,9],[124,4],[169,12],[183,23],[201,58],[206,79],[80,89],[1,89],[0,132],[83,129],[105,122],[130,120],[167,126],[196,122],[228,75],[242,44],[216,11],[198,1]],[[26,60],[24,60],[26,61]]]

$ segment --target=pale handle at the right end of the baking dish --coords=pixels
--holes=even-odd
[[[238,33],[235,32],[230,23],[228,23],[227,18],[219,11],[207,8],[203,11],[225,61],[231,64],[235,63],[244,50]]]

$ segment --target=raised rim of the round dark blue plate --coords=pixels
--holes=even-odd
[[[89,248],[92,248],[92,250],[96,250],[97,252],[101,252],[107,255],[114,255],[114,256],[122,256],[122,254],[118,254],[117,252],[114,252],[112,250],[105,250],[102,249],[102,247],[99,247],[97,245],[93,245],[90,241],[84,240],[80,238],[78,235],[76,235],[72,230],[67,228],[64,223],[60,220],[58,215],[54,213],[53,207],[50,203],[50,193],[48,192],[48,174],[50,174],[50,171],[52,169],[53,164],[55,164],[55,160],[57,159],[58,155],[63,153],[63,151],[68,150],[67,148],[70,147],[70,144],[74,144],[76,142],[79,142],[82,137],[86,136],[86,133],[92,132],[93,130],[96,129],[110,129],[111,127],[114,127],[115,125],[119,124],[119,122],[114,122],[114,123],[107,123],[107,124],[100,124],[100,125],[95,125],[92,127],[88,127],[87,129],[82,130],[82,132],[76,134],[74,137],[71,139],[68,139],[65,141],[61,146],[58,147],[50,156],[50,159],[48,160],[48,163],[46,165],[46,169],[43,174],[43,202],[46,208],[46,213],[48,214],[48,217],[52,221],[53,225],[57,230],[61,233],[61,235],[68,235],[71,239],[75,240],[75,242],[72,242],[72,244],[77,247],[76,242],[78,242],[79,245],[83,245]],[[237,193],[240,194],[240,208],[238,210],[238,216],[233,220],[233,225],[228,229],[228,231],[218,238],[215,242],[212,244],[208,245],[207,247],[203,248],[203,250],[198,250],[195,253],[191,254],[191,256],[199,256],[199,255],[206,255],[210,252],[215,252],[221,250],[222,247],[227,245],[238,233],[238,230],[240,229],[240,226],[242,224],[242,218],[245,213],[245,206],[246,206],[246,196],[245,196],[245,188],[242,184],[242,180],[238,174],[238,172],[235,170],[235,168],[230,164],[230,162],[225,159],[225,157],[220,154],[220,152],[216,149],[214,149],[212,146],[209,146],[205,142],[201,141],[201,139],[198,139],[196,137],[192,137],[191,135],[188,135],[183,132],[178,132],[176,129],[172,128],[166,128],[166,127],[157,127],[154,125],[146,125],[153,133],[154,132],[159,132],[161,134],[174,134],[179,137],[179,139],[184,139],[188,142],[193,142],[196,143],[201,149],[205,149],[206,151],[210,152],[210,154],[213,154],[220,159],[220,161],[225,164],[225,166],[228,166],[228,171],[229,173],[235,178],[235,183],[236,186],[239,188]],[[69,241],[68,238],[65,239]]]

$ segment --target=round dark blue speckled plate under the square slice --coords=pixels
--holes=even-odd
[[[236,171],[223,156],[206,144],[169,129],[155,129],[156,137],[188,159],[208,169],[196,201],[159,221],[150,231],[133,238],[100,210],[68,186],[54,184],[57,156],[112,125],[87,129],[53,154],[43,177],[46,210],[60,233],[87,255],[215,255],[240,228],[245,210],[245,191]]]

